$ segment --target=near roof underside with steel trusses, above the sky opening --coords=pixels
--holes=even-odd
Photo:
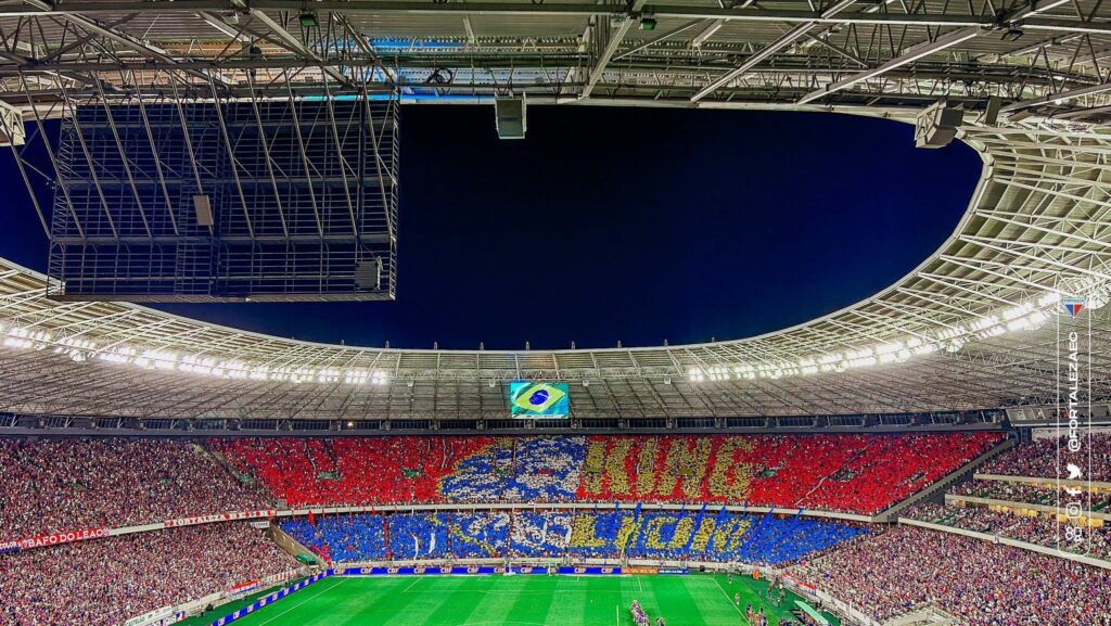
[[[219,91],[919,108],[1102,119],[1102,0],[6,0],[0,98]]]

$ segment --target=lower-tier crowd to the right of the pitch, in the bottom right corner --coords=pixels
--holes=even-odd
[[[901,526],[843,545],[795,576],[883,622],[935,603],[964,626],[1111,625],[1111,572]]]

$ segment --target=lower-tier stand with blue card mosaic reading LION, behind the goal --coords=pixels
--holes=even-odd
[[[339,514],[282,521],[337,562],[454,558],[647,558],[783,565],[867,533],[801,516],[725,510]]]

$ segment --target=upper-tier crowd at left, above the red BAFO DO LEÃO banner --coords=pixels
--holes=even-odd
[[[273,507],[196,445],[0,439],[0,540]]]

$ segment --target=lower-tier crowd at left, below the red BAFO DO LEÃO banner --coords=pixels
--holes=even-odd
[[[0,555],[0,626],[119,626],[297,567],[246,523]]]

